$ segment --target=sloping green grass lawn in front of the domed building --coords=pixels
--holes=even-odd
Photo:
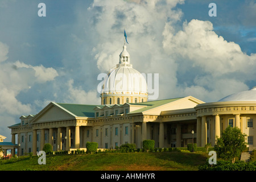
[[[207,160],[207,154],[183,152],[132,152],[77,155],[47,155],[46,165],[38,156],[2,160],[0,171],[196,171]]]

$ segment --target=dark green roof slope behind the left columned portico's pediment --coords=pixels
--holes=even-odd
[[[89,117],[94,118],[94,108],[101,105],[81,105],[81,104],[60,104],[64,109],[67,109],[71,113],[75,114],[77,117]]]

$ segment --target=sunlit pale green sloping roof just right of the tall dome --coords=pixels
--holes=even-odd
[[[140,103],[129,103],[130,105],[146,105],[147,106],[147,107],[143,107],[143,108],[138,109],[138,110],[131,111],[129,114],[142,113],[143,111],[150,110],[150,109],[153,109],[155,107],[162,106],[164,104],[168,104],[170,102],[180,100],[181,98],[184,98],[184,97],[170,98],[170,99],[158,100],[158,101],[140,102]]]

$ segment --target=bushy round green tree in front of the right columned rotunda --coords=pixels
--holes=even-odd
[[[238,127],[227,127],[221,138],[217,138],[214,150],[217,155],[225,160],[235,162],[236,157],[246,148],[245,134]]]

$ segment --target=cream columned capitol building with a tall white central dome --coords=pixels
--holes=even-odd
[[[247,147],[256,147],[256,88],[210,103],[192,96],[148,101],[146,79],[133,68],[126,48],[102,83],[101,105],[51,102],[9,126],[17,154],[36,155],[45,143],[53,151],[84,149],[88,141],[99,148],[125,143],[141,148],[145,139],[162,148],[192,142],[214,146],[228,126],[240,128],[247,135]]]

